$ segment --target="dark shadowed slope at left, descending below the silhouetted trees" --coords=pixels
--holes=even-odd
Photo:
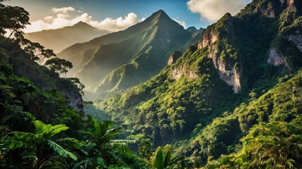
[[[24,77],[32,82],[38,89],[54,90],[69,100],[69,106],[77,111],[83,111],[83,99],[79,89],[66,78],[60,78],[45,66],[39,65],[30,59],[30,56],[18,44],[10,39],[0,37],[1,55],[12,65],[13,74]]]

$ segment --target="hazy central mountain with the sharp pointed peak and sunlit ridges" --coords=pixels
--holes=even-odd
[[[58,56],[74,63],[75,74],[98,98],[145,82],[166,65],[176,49],[184,50],[201,30],[185,30],[164,11],[127,30],[75,44]]]

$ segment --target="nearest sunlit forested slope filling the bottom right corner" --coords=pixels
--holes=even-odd
[[[206,157],[206,168],[301,168],[301,94],[300,70],[296,75],[280,78],[273,89],[259,98],[251,96],[248,103],[215,118],[190,140],[185,151]],[[242,149],[235,151],[236,148]],[[296,154],[290,154],[292,150]],[[221,154],[230,155],[214,160]],[[207,161],[207,157],[211,160]]]

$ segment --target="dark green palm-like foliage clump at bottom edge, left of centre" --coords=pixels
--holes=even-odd
[[[74,168],[105,168],[110,165],[133,165],[137,168],[142,165],[137,154],[131,151],[127,144],[134,144],[134,140],[112,139],[121,132],[121,127],[113,125],[110,121],[97,121],[92,119],[91,130],[82,131],[88,144],[81,146],[82,158]],[[132,166],[132,167],[133,167]]]

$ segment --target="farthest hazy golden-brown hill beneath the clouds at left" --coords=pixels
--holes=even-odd
[[[54,53],[59,53],[72,44],[87,42],[108,33],[107,30],[99,30],[87,23],[79,22],[73,26],[57,30],[42,30],[40,32],[27,33],[24,37],[30,39],[32,42],[39,42],[45,48],[54,50]]]

